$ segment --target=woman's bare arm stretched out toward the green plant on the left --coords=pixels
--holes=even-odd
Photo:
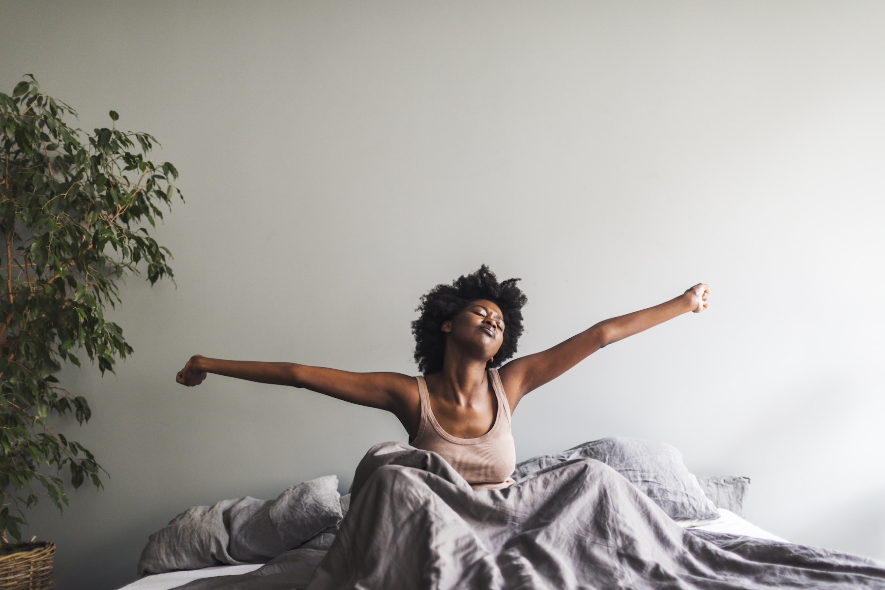
[[[264,363],[260,361],[227,361],[206,356],[191,356],[175,380],[193,387],[203,383],[207,373],[304,387],[319,394],[331,395],[345,402],[399,413],[416,388],[415,379],[395,372],[358,373],[296,363]]]

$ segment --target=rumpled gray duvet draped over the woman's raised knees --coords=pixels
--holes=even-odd
[[[358,465],[327,551],[296,548],[250,574],[182,588],[885,588],[885,563],[683,529],[593,459],[473,491],[435,453],[386,442]]]

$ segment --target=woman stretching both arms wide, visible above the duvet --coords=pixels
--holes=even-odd
[[[498,282],[483,264],[451,285],[437,285],[421,298],[412,322],[415,360],[423,376],[396,372],[355,373],[293,363],[227,361],[193,356],[178,372],[185,386],[207,373],[306,387],[346,402],[392,412],[415,448],[435,451],[473,489],[500,489],[516,454],[510,417],[524,395],[571,369],[596,350],[687,311],[707,307],[710,288],[699,283],[646,310],[606,319],[551,349],[521,356],[522,306],[516,282]]]

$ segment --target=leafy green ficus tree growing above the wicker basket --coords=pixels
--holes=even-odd
[[[43,497],[63,510],[65,480],[97,488],[107,471],[47,418],[82,425],[89,403],[57,378],[86,356],[99,371],[132,353],[105,318],[121,303],[119,280],[147,268],[172,279],[171,253],[148,222],[171,209],[178,177],[147,159],[157,140],[111,126],[86,134],[77,113],[46,96],[33,76],[0,93],[0,532],[21,539],[25,510]],[[182,199],[183,200],[183,199]],[[52,421],[50,420],[50,423]],[[55,422],[61,422],[56,419]]]

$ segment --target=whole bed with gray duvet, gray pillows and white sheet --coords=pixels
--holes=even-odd
[[[697,479],[668,445],[592,441],[512,477],[473,491],[441,456],[381,443],[350,494],[325,476],[181,513],[121,590],[885,587],[885,563],[752,525],[749,479]]]

